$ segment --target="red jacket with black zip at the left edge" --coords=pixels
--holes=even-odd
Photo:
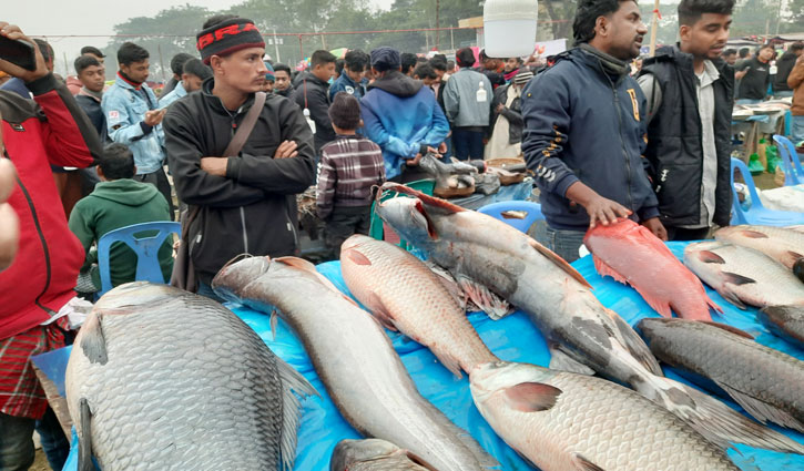
[[[67,88],[49,74],[28,83],[34,101],[0,91],[6,157],[17,167],[9,203],[20,218],[20,248],[0,272],[0,340],[48,320],[71,297],[84,260],[49,164],[85,167],[101,143]]]

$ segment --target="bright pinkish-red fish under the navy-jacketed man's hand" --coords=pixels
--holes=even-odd
[[[712,320],[709,309],[722,313],[706,296],[701,280],[675,258],[648,228],[631,219],[599,224],[587,232],[583,244],[601,276],[631,285],[657,313],[671,317]]]

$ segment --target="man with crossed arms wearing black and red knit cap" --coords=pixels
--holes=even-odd
[[[199,294],[215,298],[210,283],[236,255],[297,254],[295,195],[315,181],[315,151],[302,111],[272,93],[241,153],[223,155],[265,85],[265,42],[253,21],[234,16],[211,18],[196,38],[213,76],[167,110],[165,149],[190,207],[182,243]]]

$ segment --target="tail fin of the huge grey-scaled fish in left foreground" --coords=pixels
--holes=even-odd
[[[276,359],[276,369],[282,382],[282,432],[279,434],[279,461],[284,471],[293,470],[293,462],[296,460],[296,431],[298,430],[298,418],[301,398],[318,396],[313,385],[286,364],[282,358]],[[298,396],[296,396],[298,395]]]

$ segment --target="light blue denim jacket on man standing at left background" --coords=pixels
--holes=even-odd
[[[156,172],[164,161],[164,132],[162,124],[152,127],[143,122],[146,111],[159,109],[153,91],[144,83],[134,88],[118,75],[103,93],[101,107],[109,137],[131,149],[138,175]]]

